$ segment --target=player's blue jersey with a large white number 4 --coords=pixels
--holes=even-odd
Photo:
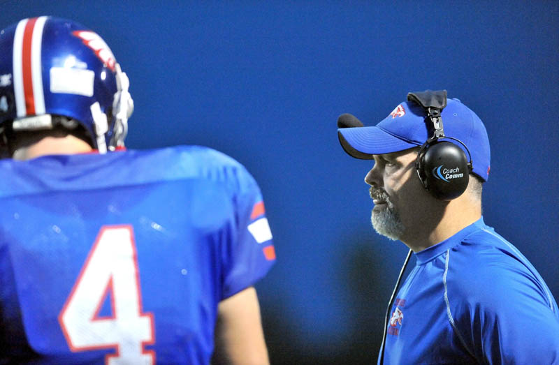
[[[205,147],[0,161],[0,363],[207,364],[275,262],[245,167]]]

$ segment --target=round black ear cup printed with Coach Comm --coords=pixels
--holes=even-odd
[[[440,200],[458,198],[470,180],[466,154],[448,141],[426,144],[419,151],[417,169],[423,186]]]

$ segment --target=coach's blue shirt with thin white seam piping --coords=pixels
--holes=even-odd
[[[483,218],[416,258],[391,308],[384,364],[559,364],[556,300]]]

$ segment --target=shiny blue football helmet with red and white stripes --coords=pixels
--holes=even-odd
[[[133,111],[128,89],[108,45],[81,24],[36,17],[0,31],[0,132],[8,124],[35,131],[73,120],[100,153],[124,147]]]

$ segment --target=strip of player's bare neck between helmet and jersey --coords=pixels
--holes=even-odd
[[[87,142],[73,135],[65,137],[44,137],[34,144],[20,147],[13,153],[14,160],[30,160],[46,155],[83,154],[93,151]]]

